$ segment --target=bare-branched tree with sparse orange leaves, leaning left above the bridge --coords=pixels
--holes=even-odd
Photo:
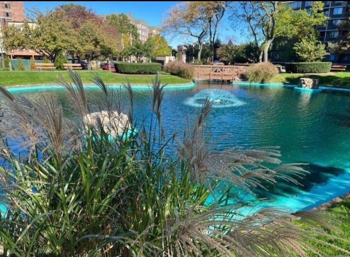
[[[205,15],[191,8],[190,2],[181,2],[171,8],[162,21],[163,33],[176,36],[195,37],[198,42],[198,61],[201,61],[203,40],[207,36],[209,25]]]

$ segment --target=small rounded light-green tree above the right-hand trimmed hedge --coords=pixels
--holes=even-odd
[[[314,37],[303,38],[294,45],[294,50],[301,61],[317,62],[327,55],[324,44]]]

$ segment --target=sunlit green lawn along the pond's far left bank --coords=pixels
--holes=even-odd
[[[152,83],[154,75],[134,75],[134,74],[117,74],[110,71],[92,71],[99,75],[106,84],[126,83],[126,78],[131,84],[146,85]],[[84,83],[91,83],[91,71],[78,71]],[[56,84],[58,76],[62,75],[68,78],[67,71],[0,71],[0,85],[43,85]],[[180,84],[191,82],[188,79],[180,78],[169,74],[160,74],[161,83],[164,84]]]

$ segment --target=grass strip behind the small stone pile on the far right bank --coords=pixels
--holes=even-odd
[[[299,78],[318,78],[320,85],[350,88],[350,72],[328,72],[320,74],[280,73],[271,82],[298,84]]]

